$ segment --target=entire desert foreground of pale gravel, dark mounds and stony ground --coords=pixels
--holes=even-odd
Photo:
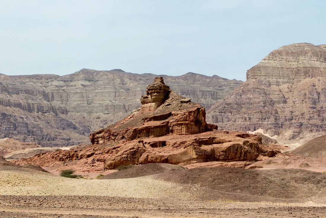
[[[325,178],[300,169],[145,164],[69,179],[2,164],[0,217],[325,217]]]

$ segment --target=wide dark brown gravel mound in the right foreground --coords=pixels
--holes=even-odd
[[[164,172],[157,174],[157,178],[191,184],[203,199],[295,202],[315,195],[326,196],[326,174],[302,169],[203,167]]]

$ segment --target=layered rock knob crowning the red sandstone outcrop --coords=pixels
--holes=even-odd
[[[170,87],[165,85],[163,77],[156,77],[154,83],[147,86],[146,95],[141,96],[142,108],[154,111],[161,106],[170,92]]]

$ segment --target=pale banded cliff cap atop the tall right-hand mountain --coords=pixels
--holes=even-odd
[[[247,71],[247,80],[266,79],[270,85],[296,85],[305,78],[326,77],[326,46],[295,43],[282,46]]]

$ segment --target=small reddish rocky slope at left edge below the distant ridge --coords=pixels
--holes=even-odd
[[[25,148],[39,148],[41,146],[36,143],[20,142],[11,138],[0,139],[0,155],[5,156],[13,151]]]

